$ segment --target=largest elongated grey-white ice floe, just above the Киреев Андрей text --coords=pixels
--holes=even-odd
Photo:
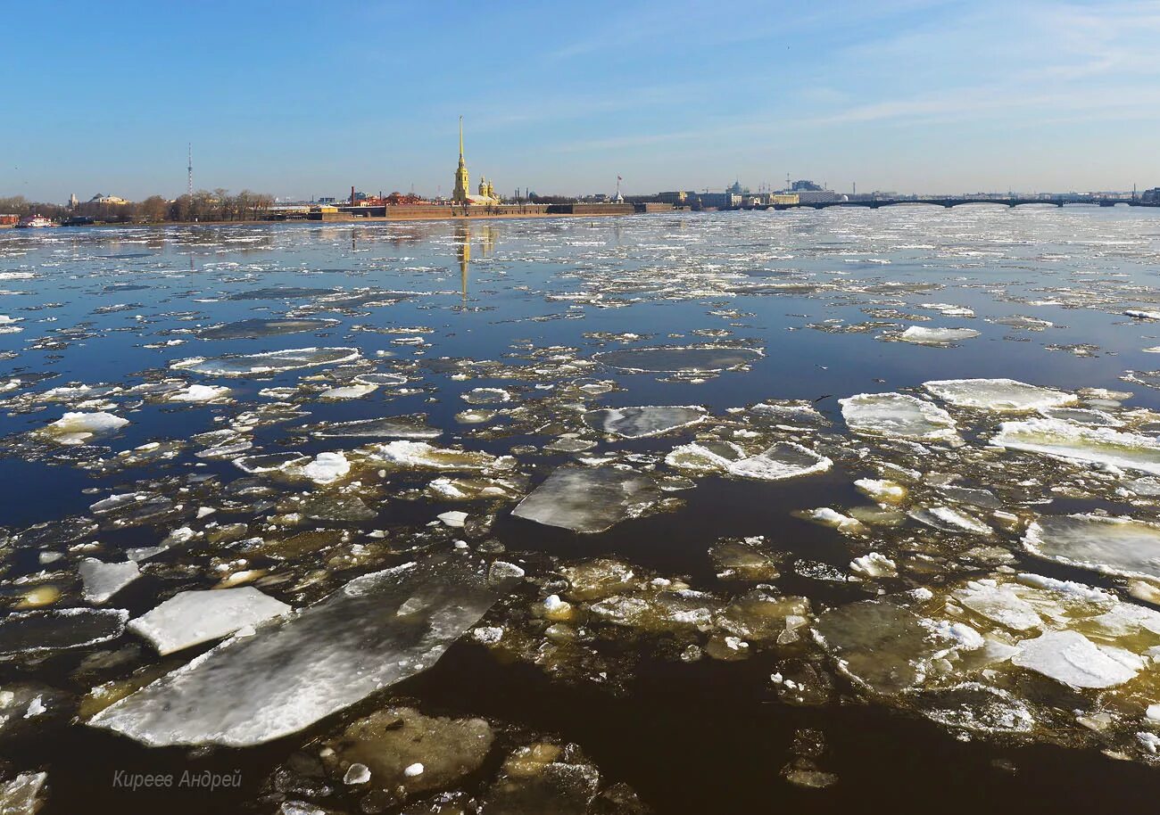
[[[150,745],[248,747],[297,733],[419,674],[503,589],[466,558],[356,577],[325,601],[234,636],[89,720]]]

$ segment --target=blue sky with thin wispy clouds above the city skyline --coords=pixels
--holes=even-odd
[[[9,3],[0,196],[1160,184],[1160,0]]]

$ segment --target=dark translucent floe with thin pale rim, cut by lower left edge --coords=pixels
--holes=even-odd
[[[60,609],[15,612],[0,619],[0,656],[43,654],[107,642],[121,636],[129,612],[122,609]]]

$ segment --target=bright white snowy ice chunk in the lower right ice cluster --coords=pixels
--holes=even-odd
[[[1018,643],[1012,663],[1029,668],[1072,687],[1115,687],[1144,667],[1144,661],[1121,648],[1099,647],[1078,631],[1049,631]]]

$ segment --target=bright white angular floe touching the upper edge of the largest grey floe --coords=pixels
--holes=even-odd
[[[129,623],[129,630],[153,643],[158,654],[172,654],[288,614],[281,601],[246,585],[213,591],[181,591]]]

